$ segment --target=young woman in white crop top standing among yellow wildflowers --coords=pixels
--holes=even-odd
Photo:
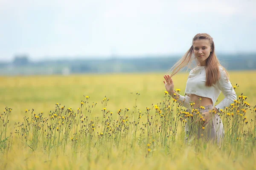
[[[181,96],[174,90],[172,77],[184,67],[191,68],[194,59],[197,66],[190,71],[185,96]],[[203,122],[202,127],[197,131],[198,138],[204,136],[204,139],[216,140],[221,144],[224,129],[218,112],[229,107],[237,96],[229,81],[229,74],[215,55],[212,37],[209,34],[196,34],[192,40],[192,46],[171,70],[171,75],[164,75],[166,91],[177,102],[188,108],[188,111],[193,108],[200,110],[203,118],[195,122]],[[225,98],[214,107],[221,92]],[[189,133],[189,129],[188,125],[185,125],[186,134]]]

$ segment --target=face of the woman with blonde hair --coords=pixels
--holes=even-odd
[[[195,58],[198,59],[201,66],[206,65],[206,59],[211,53],[211,44],[209,40],[195,40],[193,44]]]

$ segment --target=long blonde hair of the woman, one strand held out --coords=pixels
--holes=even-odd
[[[171,72],[171,77],[175,76],[182,68],[187,67],[192,69],[192,62],[195,60],[196,65],[200,65],[198,60],[195,58],[194,54],[194,42],[195,40],[209,40],[210,46],[212,51],[210,52],[209,57],[206,59],[206,86],[210,87],[213,84],[216,84],[218,79],[221,77],[221,73],[219,71],[219,66],[223,68],[223,70],[226,73],[227,79],[229,79],[229,74],[227,73],[227,70],[220,64],[216,54],[215,54],[215,45],[213,42],[212,37],[209,34],[202,33],[202,34],[196,34],[195,37],[192,40],[192,45],[189,48],[189,50],[186,52],[186,54],[175,63],[175,65],[172,66],[172,68],[169,70]]]

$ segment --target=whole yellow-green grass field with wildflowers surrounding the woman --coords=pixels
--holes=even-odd
[[[231,83],[239,85],[237,96],[243,93],[248,97],[251,108],[247,107],[247,126],[255,125],[251,119],[254,121],[256,71],[229,73]],[[158,126],[148,125],[147,116],[163,123],[162,113],[157,112],[159,117],[155,118],[155,105],[165,108],[163,101],[169,102],[163,75],[0,77],[0,169],[254,169],[254,129],[254,136],[239,133],[237,141],[237,136],[227,138],[221,149],[209,143],[183,144],[181,124],[175,139],[170,133],[166,137],[164,126],[159,135],[154,133]],[[175,88],[182,95],[187,76],[174,77]],[[218,102],[223,98],[221,94]],[[169,118],[175,118],[176,106]],[[3,118],[6,112],[10,112],[7,126],[2,121],[7,120]],[[22,128],[25,125],[26,130]]]

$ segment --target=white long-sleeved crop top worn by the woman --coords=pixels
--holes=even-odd
[[[227,80],[225,71],[219,67],[221,78],[216,82],[215,85],[207,87],[206,84],[206,71],[204,66],[197,66],[192,69],[189,73],[189,77],[186,83],[185,94],[195,94],[202,97],[207,97],[212,99],[212,104],[215,105],[218,96],[221,92],[224,94],[225,98],[215,106],[218,110],[229,107],[231,103],[236,100],[236,92]],[[183,106],[189,108],[190,98],[189,96],[181,96],[179,98],[180,102],[183,102]]]

